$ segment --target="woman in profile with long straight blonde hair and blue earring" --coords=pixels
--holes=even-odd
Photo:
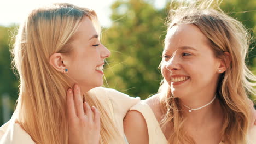
[[[67,3],[32,10],[12,52],[19,98],[0,143],[124,143],[123,118],[139,99],[99,87],[110,52],[93,10]]]

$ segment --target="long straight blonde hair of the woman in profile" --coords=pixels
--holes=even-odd
[[[53,53],[72,51],[69,42],[84,16],[100,33],[93,10],[58,3],[34,9],[20,26],[13,49],[13,63],[19,73],[20,88],[16,122],[36,143],[63,144],[68,141],[66,91],[69,77],[49,64]],[[84,99],[101,113],[100,143],[121,143],[121,137],[105,107],[96,97]],[[119,142],[120,141],[120,142]]]

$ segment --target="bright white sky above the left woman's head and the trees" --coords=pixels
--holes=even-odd
[[[2,1],[2,2],[1,2]],[[0,3],[0,25],[9,26],[12,23],[21,23],[24,17],[31,9],[39,7],[40,5],[46,5],[50,3],[66,2],[80,7],[87,7],[94,9],[98,15],[100,23],[104,27],[111,25],[110,20],[110,5],[115,0],[1,0]],[[138,0],[139,1],[139,0]],[[154,0],[154,6],[156,8],[164,7],[166,0]]]

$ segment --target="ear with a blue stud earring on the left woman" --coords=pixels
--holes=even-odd
[[[61,53],[54,53],[50,56],[49,63],[53,68],[61,73],[65,73],[66,65],[63,63],[63,55]]]

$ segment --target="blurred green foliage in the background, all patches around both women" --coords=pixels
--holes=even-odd
[[[110,49],[112,56],[107,59],[106,87],[115,88],[131,96],[146,99],[158,91],[161,73],[163,40],[166,34],[165,18],[168,8],[157,9],[153,0],[116,1],[111,9],[112,26],[103,28],[103,44]],[[256,1],[226,0],[222,9],[240,20],[251,34],[256,33]],[[18,98],[19,82],[11,69],[9,49],[15,26],[0,26],[0,125],[5,109],[13,112]],[[251,48],[255,47],[256,36],[252,38]],[[248,65],[256,72],[256,50],[248,55]],[[254,73],[255,74],[255,73]],[[8,104],[3,103],[3,95],[9,95]]]

